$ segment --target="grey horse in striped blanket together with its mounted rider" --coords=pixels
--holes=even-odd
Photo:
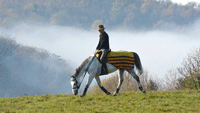
[[[108,92],[102,85],[99,76],[106,75],[108,73],[112,73],[116,70],[119,70],[119,83],[117,89],[113,96],[116,96],[120,90],[122,85],[123,73],[124,71],[128,71],[130,75],[135,78],[138,83],[140,91],[145,93],[143,87],[140,83],[139,77],[136,75],[134,71],[134,65],[139,70],[140,75],[143,72],[142,65],[140,62],[140,58],[137,53],[135,52],[126,52],[126,51],[118,51],[118,52],[110,52],[109,47],[109,37],[108,34],[104,31],[105,28],[103,25],[99,25],[98,30],[100,32],[100,39],[99,43],[96,47],[94,52],[95,56],[88,57],[77,69],[74,75],[71,76],[71,85],[72,85],[72,92],[74,95],[78,94],[78,90],[81,86],[81,83],[86,75],[89,73],[88,81],[86,83],[85,89],[81,97],[85,96],[92,80],[95,78],[99,87],[109,95]],[[100,56],[100,57],[99,57]],[[107,63],[107,64],[106,64]],[[90,66],[91,65],[91,66]],[[105,68],[106,67],[106,68]],[[100,71],[101,68],[101,71]],[[107,71],[105,71],[105,69]]]

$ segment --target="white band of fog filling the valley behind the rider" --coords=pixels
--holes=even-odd
[[[106,29],[106,32],[112,51],[138,53],[144,70],[162,79],[169,70],[180,66],[189,52],[200,47],[199,26],[200,21],[196,21],[190,26],[163,28],[168,30],[136,31],[118,28]],[[64,26],[20,23],[9,29],[0,28],[0,32],[23,46],[42,48],[70,61],[70,73],[93,54],[99,41],[97,30]],[[66,82],[69,83],[69,80]]]

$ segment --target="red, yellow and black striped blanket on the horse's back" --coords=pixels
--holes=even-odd
[[[96,57],[99,55],[97,54]],[[134,68],[135,58],[133,52],[127,51],[111,51],[107,55],[107,62],[114,65],[118,69]]]

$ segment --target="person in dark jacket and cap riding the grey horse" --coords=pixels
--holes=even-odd
[[[103,71],[106,73],[107,68],[106,67],[106,55],[110,51],[110,46],[109,46],[109,36],[108,34],[104,31],[105,28],[103,25],[98,26],[98,31],[100,33],[99,37],[99,43],[96,47],[96,50],[94,54],[97,54],[98,52],[102,52],[100,56],[100,62],[102,63]]]

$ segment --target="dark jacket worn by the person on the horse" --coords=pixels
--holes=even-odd
[[[110,49],[108,34],[104,31],[104,33],[100,34],[99,37],[99,44],[97,45],[96,49]]]

